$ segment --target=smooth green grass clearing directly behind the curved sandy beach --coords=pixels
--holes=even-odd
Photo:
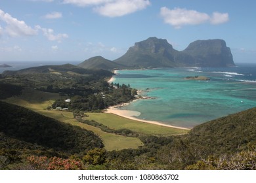
[[[112,129],[131,129],[138,133],[144,133],[148,135],[181,135],[188,133],[186,129],[175,129],[172,127],[165,127],[161,125],[147,124],[144,122],[138,122],[117,116],[116,114],[109,113],[93,113],[87,112],[89,117],[85,117],[85,120],[95,120],[98,123],[104,124]]]

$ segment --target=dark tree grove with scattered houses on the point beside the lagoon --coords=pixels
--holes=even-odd
[[[90,84],[89,87],[92,89],[90,92],[87,91],[87,93],[77,93],[73,97],[70,96],[70,103],[62,99],[56,100],[53,108],[62,107],[75,111],[102,110],[112,105],[131,101],[135,99],[135,95],[137,94],[137,91],[129,86],[124,84],[121,86],[119,84],[108,84],[104,80]]]

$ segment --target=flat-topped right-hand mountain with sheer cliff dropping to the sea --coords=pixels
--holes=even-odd
[[[234,66],[230,48],[221,39],[194,41],[181,53],[192,56],[195,67]]]

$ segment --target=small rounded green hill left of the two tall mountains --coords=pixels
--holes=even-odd
[[[85,69],[106,69],[106,70],[114,70],[114,69],[123,69],[124,65],[116,63],[114,61],[110,61],[109,59],[105,59],[102,56],[96,56],[93,58],[89,58],[82,63],[79,63],[77,66],[85,68]]]

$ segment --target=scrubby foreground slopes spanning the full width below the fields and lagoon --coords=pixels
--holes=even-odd
[[[25,108],[1,103],[1,117],[1,169],[255,169],[256,108],[198,125],[187,135],[139,134],[144,146],[111,152],[92,133]]]

